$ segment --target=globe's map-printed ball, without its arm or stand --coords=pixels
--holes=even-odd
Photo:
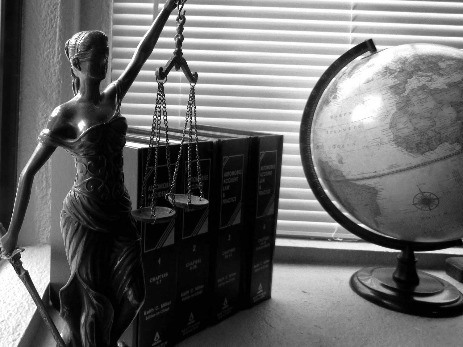
[[[463,236],[463,52],[405,44],[349,63],[313,116],[320,183],[355,219],[406,241]]]

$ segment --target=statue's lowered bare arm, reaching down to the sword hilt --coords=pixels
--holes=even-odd
[[[13,252],[18,243],[19,230],[23,224],[29,198],[31,196],[32,182],[37,171],[50,158],[56,147],[39,143],[31,158],[19,176],[18,190],[14,200],[13,215],[8,232],[0,238],[0,252],[3,255]]]

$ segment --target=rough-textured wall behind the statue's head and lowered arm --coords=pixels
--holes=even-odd
[[[25,0],[21,52],[18,167],[30,158],[53,109],[72,98],[64,44],[75,32],[111,30],[112,0]],[[51,165],[39,170],[19,243],[48,243],[51,226]],[[19,174],[18,174],[19,176]],[[72,184],[73,177],[69,177]]]

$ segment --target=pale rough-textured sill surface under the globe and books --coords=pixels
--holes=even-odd
[[[452,345],[452,342],[463,341],[463,329],[456,329],[461,326],[457,323],[461,318],[439,320],[400,314],[365,301],[349,288],[350,275],[360,267],[395,266],[397,253],[367,242],[278,238],[272,299],[239,312],[178,346],[216,346],[218,338],[223,339],[220,343],[223,347],[292,347],[306,346],[307,343],[310,346],[379,347],[417,345],[418,341],[424,341],[423,346],[459,346],[457,343]],[[46,297],[50,247],[27,247],[22,254],[24,266],[30,271],[39,294]],[[420,252],[417,254],[419,268],[463,291],[463,284],[442,270],[444,260],[450,256],[463,256],[463,248]],[[35,304],[6,261],[0,262],[0,283],[5,284],[0,286],[0,343],[2,346],[26,347],[29,345],[27,341],[31,341],[38,330],[45,329],[41,317],[37,312],[34,316]],[[404,326],[408,330],[403,330]],[[432,330],[437,334],[431,334]],[[236,334],[237,331],[240,333]],[[372,331],[375,335],[371,334]],[[424,337],[416,343],[405,343],[412,340],[407,340],[409,337],[404,334],[417,331]],[[46,342],[39,343],[38,347],[54,346],[50,334],[41,331],[41,335],[45,336]],[[374,336],[378,336],[377,339]],[[444,344],[443,336],[447,338]]]

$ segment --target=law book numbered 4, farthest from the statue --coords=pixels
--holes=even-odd
[[[249,307],[271,297],[283,135],[201,125],[198,131],[245,136],[249,141],[241,280],[241,303]]]

